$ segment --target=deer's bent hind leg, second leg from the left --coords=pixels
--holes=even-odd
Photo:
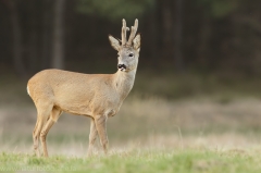
[[[44,128],[40,132],[40,140],[41,140],[41,146],[42,146],[42,150],[44,150],[44,156],[45,157],[48,157],[46,136],[47,136],[48,132],[50,131],[50,128],[52,127],[52,125],[58,121],[58,119],[60,118],[61,113],[62,113],[61,110],[59,110],[58,108],[53,107],[47,123],[45,124]]]

